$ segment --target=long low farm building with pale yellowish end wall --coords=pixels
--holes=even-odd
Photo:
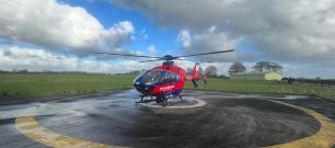
[[[239,72],[231,73],[230,79],[243,79],[243,80],[280,80],[281,76],[278,72]]]

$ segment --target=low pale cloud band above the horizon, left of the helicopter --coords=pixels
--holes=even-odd
[[[92,60],[54,54],[42,48],[0,46],[0,70],[28,69],[31,71],[88,71],[88,72],[128,72],[147,69],[152,64],[139,64],[136,60],[123,60],[117,64],[108,60]]]

